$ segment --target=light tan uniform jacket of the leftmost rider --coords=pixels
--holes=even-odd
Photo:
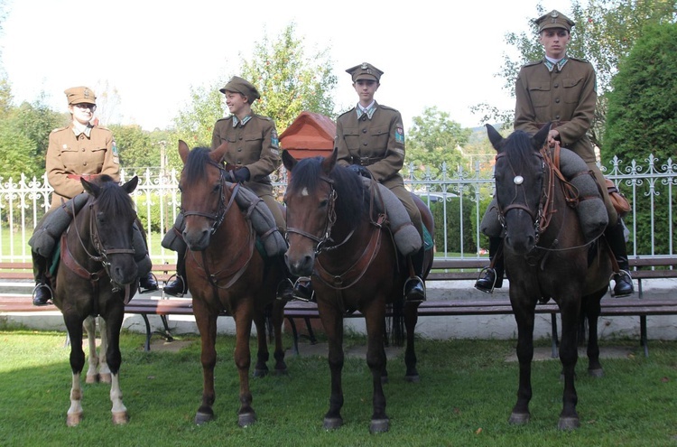
[[[54,188],[52,209],[84,191],[79,178],[69,178],[69,175],[108,174],[119,182],[120,159],[113,133],[106,127],[90,126],[88,132],[76,136],[72,124],[53,130],[47,147],[46,168],[47,180]]]

